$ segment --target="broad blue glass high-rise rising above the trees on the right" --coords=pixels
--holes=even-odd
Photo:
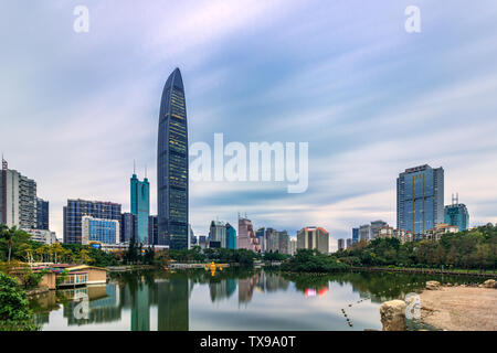
[[[420,238],[444,221],[444,170],[421,165],[396,180],[396,227]]]

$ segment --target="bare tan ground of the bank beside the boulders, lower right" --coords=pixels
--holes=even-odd
[[[440,287],[421,295],[421,320],[447,331],[497,331],[497,290]]]

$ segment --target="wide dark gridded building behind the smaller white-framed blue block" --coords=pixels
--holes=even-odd
[[[102,201],[67,200],[63,208],[64,243],[82,244],[82,217],[120,221],[120,204]]]

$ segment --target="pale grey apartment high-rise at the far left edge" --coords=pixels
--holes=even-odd
[[[36,228],[36,183],[8,168],[2,158],[0,173],[0,223],[22,229]]]

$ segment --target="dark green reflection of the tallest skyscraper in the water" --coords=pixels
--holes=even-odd
[[[189,279],[171,277],[158,286],[158,330],[188,331],[189,329]]]

